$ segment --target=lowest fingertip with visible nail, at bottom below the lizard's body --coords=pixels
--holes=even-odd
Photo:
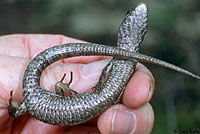
[[[154,123],[150,104],[133,109],[117,104],[100,115],[97,122],[102,134],[148,134]]]

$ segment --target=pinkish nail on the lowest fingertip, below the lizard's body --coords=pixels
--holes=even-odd
[[[134,112],[117,106],[112,118],[112,134],[132,134],[136,129]]]

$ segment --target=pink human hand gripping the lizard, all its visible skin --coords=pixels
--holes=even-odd
[[[67,133],[67,134],[148,134],[154,123],[154,113],[148,103],[154,91],[154,78],[150,71],[138,63],[120,103],[101,115],[76,126],[55,126],[36,120],[30,114],[16,119],[8,116],[8,99],[23,101],[23,73],[30,60],[46,48],[83,41],[62,35],[7,35],[0,37],[0,133]],[[66,73],[64,82],[73,81],[70,88],[77,92],[90,91],[98,82],[102,69],[111,57],[81,56],[60,60],[42,73],[41,87],[55,93],[55,83]]]

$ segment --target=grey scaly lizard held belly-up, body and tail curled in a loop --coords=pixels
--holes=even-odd
[[[145,4],[141,4],[129,11],[122,22],[118,33],[118,47],[70,43],[44,50],[26,68],[23,79],[24,100],[20,105],[12,100],[13,92],[10,92],[9,116],[17,118],[28,112],[40,121],[66,126],[88,121],[119,102],[137,61],[157,64],[200,79],[180,67],[140,54],[138,46],[146,33],[146,27],[147,8]],[[41,89],[40,76],[47,66],[63,58],[91,55],[114,57],[103,69],[99,82],[91,92],[76,93],[68,88],[70,83],[62,83],[64,77],[56,84],[56,94]],[[70,92],[70,95],[63,95],[63,87],[67,88],[64,90]]]

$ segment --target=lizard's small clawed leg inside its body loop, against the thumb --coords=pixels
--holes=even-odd
[[[56,90],[56,94],[57,95],[61,95],[61,96],[64,96],[64,92],[65,91],[66,93],[69,93],[70,95],[71,94],[78,94],[78,92],[72,90],[69,88],[70,84],[72,83],[72,79],[73,79],[73,73],[70,72],[70,81],[69,83],[63,83],[63,80],[66,76],[66,73],[63,75],[63,77],[61,78],[60,81],[58,81],[55,85],[55,90]]]

